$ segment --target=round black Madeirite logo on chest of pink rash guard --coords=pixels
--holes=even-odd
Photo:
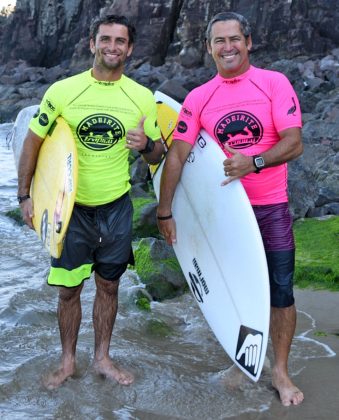
[[[235,111],[223,116],[215,126],[214,135],[221,143],[234,149],[244,149],[262,139],[261,122],[250,112]]]

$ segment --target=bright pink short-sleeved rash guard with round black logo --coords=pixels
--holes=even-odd
[[[250,66],[232,79],[218,74],[190,92],[173,138],[193,145],[204,128],[219,144],[253,156],[279,142],[279,132],[301,126],[299,101],[288,79]],[[241,181],[252,205],[288,201],[286,163],[248,174]]]

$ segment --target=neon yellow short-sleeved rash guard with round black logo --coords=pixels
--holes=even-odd
[[[71,127],[78,149],[76,202],[87,206],[109,203],[130,189],[125,136],[143,116],[146,135],[160,138],[152,92],[124,75],[100,82],[87,70],[54,83],[29,128],[45,138],[59,115]]]

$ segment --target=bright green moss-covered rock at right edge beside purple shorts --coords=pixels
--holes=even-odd
[[[300,288],[339,291],[339,217],[300,219],[293,230],[294,283]]]

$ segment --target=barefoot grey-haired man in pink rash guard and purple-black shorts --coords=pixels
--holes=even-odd
[[[298,405],[304,396],[288,373],[296,308],[286,162],[303,151],[299,101],[283,74],[250,64],[251,29],[243,16],[233,12],[214,16],[206,46],[218,74],[190,92],[182,106],[161,179],[159,230],[167,243],[176,241],[172,199],[186,158],[204,128],[225,152],[223,185],[240,178],[253,206],[270,276],[272,384],[283,405]]]

